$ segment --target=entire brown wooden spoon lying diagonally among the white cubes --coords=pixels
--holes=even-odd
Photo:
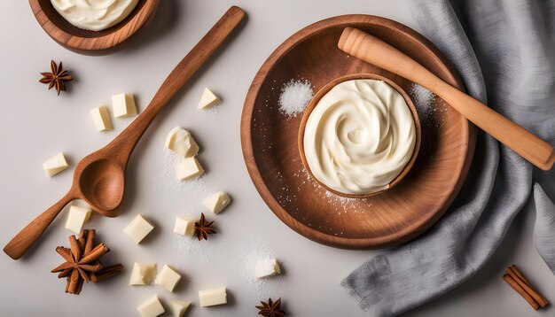
[[[35,244],[64,206],[76,198],[86,201],[97,213],[115,217],[117,213],[114,210],[121,204],[123,197],[125,169],[138,140],[156,114],[222,45],[244,17],[243,10],[232,6],[168,75],[145,111],[111,143],[82,158],[75,166],[74,182],[66,196],[14,236],[4,247],[4,252],[12,259],[20,259]]]

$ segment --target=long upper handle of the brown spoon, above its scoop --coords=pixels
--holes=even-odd
[[[177,64],[176,68],[169,73],[151,103],[146,107],[136,120],[129,127],[118,135],[112,143],[106,147],[118,148],[118,157],[123,165],[127,163],[129,156],[138,140],[145,133],[146,128],[151,124],[154,117],[160,112],[164,105],[174,97],[179,89],[196,73],[200,66],[204,65],[225,39],[231,35],[232,31],[238,27],[245,17],[245,12],[238,6],[232,6],[215,26],[212,27],[197,45]]]

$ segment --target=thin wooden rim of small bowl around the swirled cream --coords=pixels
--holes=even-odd
[[[387,189],[382,189],[382,190],[379,190],[379,191],[376,191],[376,192],[373,192],[373,193],[370,193],[370,194],[356,195],[356,194],[342,193],[342,192],[337,191],[335,189],[331,189],[328,186],[326,186],[323,182],[320,182],[314,176],[314,174],[312,174],[312,171],[310,170],[309,163],[307,161],[307,157],[305,156],[305,153],[304,153],[304,132],[307,128],[307,121],[309,120],[310,113],[312,113],[314,108],[316,108],[317,104],[320,102],[320,99],[322,99],[322,97],[324,97],[325,94],[327,94],[333,87],[337,86],[338,84],[340,84],[343,81],[352,81],[352,80],[360,80],[360,79],[371,79],[371,80],[377,80],[377,81],[384,81],[389,86],[391,86],[393,89],[397,90],[397,92],[399,92],[399,94],[401,94],[401,96],[403,96],[404,101],[409,106],[410,113],[412,113],[412,118],[414,119],[414,128],[416,129],[416,140],[415,140],[415,143],[414,143],[414,151],[412,151],[412,156],[410,157],[410,160],[403,167],[403,170],[401,170],[401,173],[399,173],[397,176],[395,176],[393,181],[391,181],[389,183],[389,187]],[[406,176],[409,173],[410,168],[412,168],[412,166],[414,165],[414,161],[416,161],[416,158],[418,157],[418,151],[420,150],[421,135],[422,135],[422,131],[421,131],[421,128],[420,128],[420,120],[418,119],[418,111],[417,111],[416,107],[414,106],[414,104],[412,103],[412,100],[410,99],[409,95],[401,87],[399,87],[399,85],[397,85],[394,81],[391,81],[391,80],[387,79],[386,77],[380,76],[378,74],[374,74],[374,73],[351,73],[351,74],[348,74],[348,75],[345,75],[345,76],[341,76],[340,78],[336,78],[333,81],[330,81],[322,89],[320,89],[317,92],[316,95],[314,95],[312,100],[310,100],[310,103],[307,105],[307,109],[304,111],[304,113],[302,115],[301,126],[299,127],[299,140],[298,140],[299,154],[301,155],[302,165],[305,166],[305,168],[307,169],[307,172],[309,172],[310,176],[318,184],[320,184],[320,186],[324,187],[324,189],[326,189],[328,191],[331,191],[333,194],[335,194],[337,196],[340,196],[340,197],[368,198],[368,197],[377,196],[381,193],[386,192],[389,189],[393,189],[395,187],[395,185],[397,185],[399,182],[401,182],[403,180],[404,176]]]

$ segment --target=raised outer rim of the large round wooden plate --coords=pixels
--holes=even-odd
[[[292,50],[306,37],[312,35],[313,33],[323,31],[324,29],[329,27],[337,27],[341,25],[343,27],[348,27],[357,24],[386,27],[405,37],[413,39],[417,43],[421,43],[422,46],[426,48],[426,50],[431,51],[434,63],[440,63],[442,65],[444,73],[437,73],[437,75],[442,78],[442,80],[448,82],[450,85],[457,87],[457,89],[465,89],[463,82],[458,77],[457,70],[449,63],[448,59],[443,56],[442,52],[438,50],[433,43],[427,40],[426,37],[424,37],[423,35],[419,35],[418,32],[414,31],[410,27],[404,26],[403,24],[398,23],[392,19],[387,19],[374,15],[341,15],[328,19],[323,19],[309,25],[308,27],[302,28],[300,31],[287,38],[284,43],[281,43],[277,47],[277,49],[270,54],[270,57],[266,59],[266,61],[260,67],[258,73],[256,73],[256,75],[254,76],[251,87],[248,89],[243,112],[241,114],[240,133],[243,158],[245,159],[248,174],[254,182],[254,187],[258,190],[260,196],[262,197],[262,200],[264,200],[264,202],[269,205],[270,210],[274,214],[276,214],[277,218],[282,220],[289,228],[292,228],[295,232],[301,234],[301,236],[305,236],[319,244],[325,244],[342,249],[365,250],[383,248],[398,244],[400,233],[403,235],[403,242],[409,241],[411,238],[420,235],[427,228],[432,226],[435,220],[439,219],[442,216],[449,205],[451,205],[453,200],[455,200],[455,197],[457,197],[457,193],[462,187],[462,184],[465,181],[465,177],[468,174],[468,170],[472,164],[476,140],[476,130],[473,124],[466,120],[467,124],[464,126],[464,128],[465,135],[468,135],[468,138],[465,140],[467,145],[466,158],[464,160],[465,164],[463,164],[461,168],[461,173],[458,182],[453,189],[452,195],[450,195],[442,202],[442,208],[439,208],[437,213],[432,214],[426,219],[422,219],[412,226],[404,228],[400,232],[396,232],[395,236],[393,233],[386,236],[372,238],[353,238],[325,235],[324,233],[317,231],[314,228],[310,228],[304,225],[301,221],[294,219],[289,213],[287,213],[285,209],[281,205],[279,205],[276,198],[272,196],[270,190],[266,187],[264,180],[262,179],[262,175],[260,174],[260,171],[256,166],[253,144],[251,142],[251,124],[256,97],[258,96],[258,93],[262,87],[262,82],[264,81],[264,78],[267,76],[268,73],[270,73],[271,69],[273,69],[273,67],[285,55],[285,53],[287,53],[289,50]]]

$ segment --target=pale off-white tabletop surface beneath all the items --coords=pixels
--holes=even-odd
[[[135,316],[137,305],[154,294],[160,295],[166,308],[171,298],[191,300],[191,316],[254,316],[254,305],[268,297],[282,297],[285,311],[294,316],[364,315],[339,284],[374,252],[316,244],[279,221],[246,173],[239,119],[254,74],[289,35],[319,19],[345,13],[381,15],[418,29],[403,2],[163,0],[145,37],[106,57],[81,56],[54,43],[36,23],[27,1],[0,2],[4,62],[0,87],[7,119],[0,125],[0,243],[6,244],[69,188],[72,169],[50,179],[43,172],[45,159],[64,151],[73,167],[135,118],[114,119],[113,131],[98,133],[90,108],[110,104],[113,94],[128,91],[135,94],[137,108],[143,111],[171,69],[231,4],[246,10],[246,26],[168,104],[138,144],[128,167],[121,216],[108,219],[95,214],[85,225],[97,228],[98,241],[112,250],[105,263],[121,262],[123,273],[85,284],[79,296],[64,293],[65,282],[50,270],[62,262],[55,247],[68,245],[65,211],[24,259],[14,261],[0,254],[1,316]],[[69,93],[60,97],[38,82],[39,72],[48,71],[51,58],[62,60],[76,78],[68,84]],[[196,109],[206,86],[223,98],[217,114]],[[207,167],[204,186],[199,182],[171,185],[176,182],[175,165],[168,166],[164,140],[176,126],[192,131],[199,142],[199,159]],[[218,189],[228,191],[234,201],[225,213],[209,215],[208,220],[216,220],[217,235],[196,242],[172,232],[176,215],[198,215],[204,211],[202,197]],[[139,245],[122,232],[137,213],[156,227]],[[504,267],[516,263],[548,299],[555,300],[555,277],[534,250],[532,213],[528,215],[515,220],[494,259],[469,282],[407,315],[552,315],[552,308],[535,313],[501,278]],[[260,253],[280,259],[283,274],[255,284],[252,265],[254,254]],[[154,286],[130,287],[135,261],[168,263],[184,274],[184,280],[174,294]],[[227,287],[229,304],[200,307],[197,291],[221,285]]]

